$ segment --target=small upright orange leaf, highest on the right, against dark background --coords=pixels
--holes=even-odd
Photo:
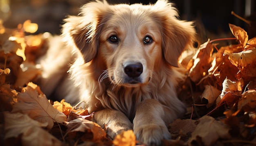
[[[236,39],[240,42],[240,44],[245,47],[247,41],[248,41],[248,35],[247,32],[242,29],[241,27],[237,27],[236,25],[229,24],[229,28],[233,35],[236,37]]]

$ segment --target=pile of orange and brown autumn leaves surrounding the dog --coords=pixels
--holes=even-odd
[[[172,139],[164,145],[256,144],[256,38],[248,40],[242,28],[229,27],[235,38],[208,40],[181,58],[188,71],[181,93],[187,95],[189,118],[170,124]],[[41,73],[36,59],[52,36],[31,35],[36,30],[29,20],[16,29],[0,22],[0,145],[142,144],[132,131],[112,139],[108,125],[93,122],[93,113],[79,104],[47,100],[31,81]],[[223,40],[237,42],[218,48],[215,42]]]

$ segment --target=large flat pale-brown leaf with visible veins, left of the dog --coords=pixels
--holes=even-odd
[[[38,95],[37,91],[30,86],[25,87],[24,93],[19,93],[17,97],[18,102],[13,105],[12,113],[28,114],[38,122],[47,122],[49,129],[54,125],[54,121],[63,123],[67,120],[65,114],[52,107],[45,95]]]

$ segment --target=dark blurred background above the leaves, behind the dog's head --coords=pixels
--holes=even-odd
[[[36,33],[60,34],[66,15],[77,15],[79,7],[89,0],[0,0],[0,19],[4,27],[16,28],[19,23],[31,20],[38,24]],[[108,0],[114,3],[155,3],[156,0]],[[208,38],[232,37],[228,23],[242,27],[255,36],[256,0],[172,0],[179,10],[180,19],[195,21],[201,43]],[[231,15],[231,11],[251,24]],[[250,31],[250,32],[249,32]]]

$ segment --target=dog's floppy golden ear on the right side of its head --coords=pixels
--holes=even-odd
[[[193,47],[195,29],[193,22],[178,20],[177,10],[168,0],[158,0],[153,6],[160,11],[157,15],[162,22],[162,49],[165,60],[178,66],[178,59],[184,49]]]

